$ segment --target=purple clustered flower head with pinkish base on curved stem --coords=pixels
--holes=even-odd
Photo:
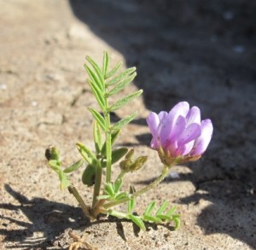
[[[169,113],[152,112],[147,122],[153,136],[150,146],[166,165],[199,159],[212,138],[211,119],[201,121],[200,109],[189,109],[188,102],[178,102]]]

